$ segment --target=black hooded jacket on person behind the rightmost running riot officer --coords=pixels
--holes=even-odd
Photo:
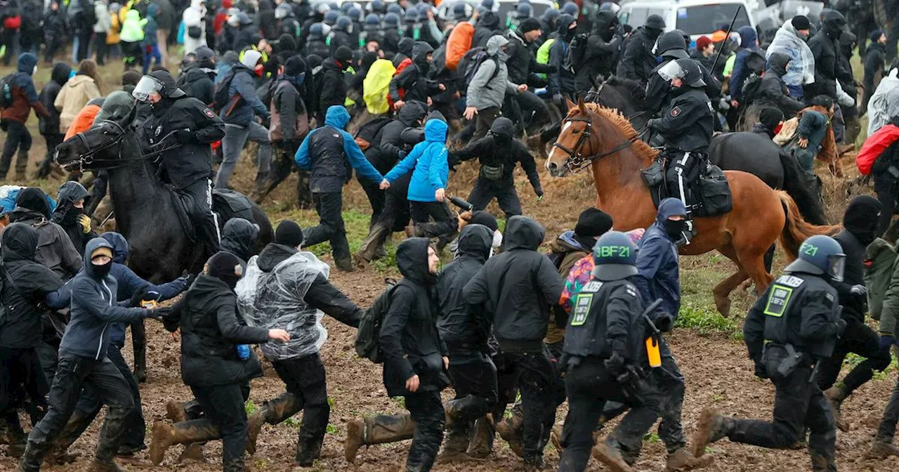
[[[833,239],[840,243],[843,254],[846,254],[843,280],[842,282],[832,282],[832,286],[840,294],[844,318],[851,316],[864,322],[865,313],[868,311],[868,298],[852,295],[850,289],[853,285],[865,284],[862,274],[865,249],[874,242],[876,237],[880,207],[880,202],[869,195],[859,195],[852,199],[843,214],[842,231],[833,236]]]

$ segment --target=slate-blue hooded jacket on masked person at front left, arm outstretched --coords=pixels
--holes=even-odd
[[[91,254],[100,247],[112,245],[102,237],[94,237],[85,246],[85,265],[72,279],[72,309],[66,334],[59,344],[59,356],[76,355],[94,360],[106,357],[113,323],[131,323],[147,317],[143,308],[125,308],[117,304],[119,285],[111,273],[99,278],[93,273]],[[114,264],[114,263],[113,263]],[[129,300],[125,300],[127,303]]]

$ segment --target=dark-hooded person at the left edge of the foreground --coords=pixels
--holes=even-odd
[[[0,330],[0,420],[5,423],[9,453],[22,455],[25,433],[19,423],[13,394],[24,386],[31,399],[31,423],[47,411],[47,378],[41,374],[38,348],[42,343],[47,307],[68,306],[71,294],[56,274],[35,261],[40,235],[34,228],[13,223],[4,228],[0,253],[0,303],[6,314]]]

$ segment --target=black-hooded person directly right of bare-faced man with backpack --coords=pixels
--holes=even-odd
[[[487,331],[484,320],[470,310],[464,289],[481,270],[493,250],[494,231],[467,224],[458,235],[456,259],[441,271],[437,281],[440,314],[437,331],[447,345],[449,378],[456,391],[447,404],[449,423],[444,457],[464,454],[485,458],[493,450],[494,428],[486,417],[499,399],[496,366],[485,354]],[[470,437],[470,440],[469,440]]]

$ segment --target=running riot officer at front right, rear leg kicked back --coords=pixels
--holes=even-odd
[[[846,322],[837,290],[846,255],[830,236],[812,236],[799,247],[799,258],[771,283],[746,316],[743,338],[755,375],[775,387],[774,421],[736,420],[702,412],[694,450],[725,436],[731,441],[783,449],[805,438],[812,470],[836,470],[835,422],[815,381],[817,363],[832,356]]]

